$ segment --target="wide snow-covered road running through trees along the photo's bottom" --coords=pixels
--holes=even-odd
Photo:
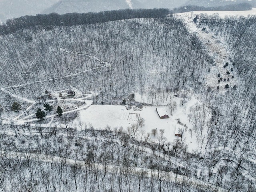
[[[81,168],[97,168],[98,170],[104,171],[104,165],[103,164],[98,164],[91,162],[89,164],[86,164],[84,161],[80,160],[73,160],[69,158],[64,158],[64,157],[59,157],[59,156],[50,156],[50,155],[45,155],[45,154],[36,154],[36,153],[21,153],[21,152],[10,152],[8,153],[4,151],[0,151],[1,156],[6,156],[8,158],[19,158],[19,160],[33,160],[33,161],[38,161],[38,162],[65,162],[68,165],[75,165],[79,164]],[[106,165],[107,170],[116,170],[116,169],[121,169],[120,166],[112,166],[112,165]],[[148,178],[156,178],[157,176],[161,176],[163,180],[168,180],[172,182],[184,182],[186,181],[187,184],[190,184],[194,187],[197,187],[198,185],[204,186],[206,190],[211,190],[211,191],[218,191],[218,192],[227,192],[228,190],[225,190],[224,188],[220,188],[218,186],[212,185],[206,181],[202,181],[196,178],[190,178],[187,176],[175,174],[174,172],[165,172],[165,171],[158,171],[158,170],[153,170],[153,169],[147,169],[147,168],[140,168],[140,167],[129,167],[130,172],[133,174],[139,174],[140,172],[145,172],[148,176]]]

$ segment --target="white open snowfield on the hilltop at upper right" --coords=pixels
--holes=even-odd
[[[245,16],[248,15],[256,15],[256,8],[252,8],[249,11],[191,11],[191,12],[184,12],[184,13],[176,13],[179,16],[188,16],[188,17],[195,17],[200,13],[212,15],[214,13],[218,13],[219,17],[225,18],[225,16]]]

